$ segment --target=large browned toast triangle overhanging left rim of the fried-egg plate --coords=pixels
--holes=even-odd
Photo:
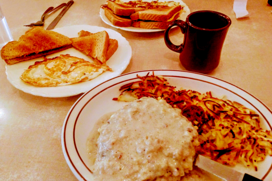
[[[48,55],[71,47],[72,41],[57,32],[34,27],[18,41],[11,41],[1,49],[1,57],[8,65]]]

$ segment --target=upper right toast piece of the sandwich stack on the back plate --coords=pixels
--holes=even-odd
[[[131,14],[131,20],[150,20],[150,21],[167,21],[174,14],[181,10],[181,5],[165,6],[156,9],[148,9]]]

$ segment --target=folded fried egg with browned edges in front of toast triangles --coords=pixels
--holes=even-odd
[[[34,86],[53,87],[89,81],[107,70],[111,71],[106,65],[98,65],[66,54],[35,62],[20,78]]]

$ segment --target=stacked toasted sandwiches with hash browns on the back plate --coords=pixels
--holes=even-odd
[[[118,27],[139,27],[144,29],[165,29],[176,20],[183,7],[178,2],[122,2],[108,0],[101,6],[105,16]]]

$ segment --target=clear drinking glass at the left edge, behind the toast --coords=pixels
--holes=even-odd
[[[0,7],[0,48],[2,48],[8,42],[13,41],[10,30],[8,28],[7,21],[2,14]]]

